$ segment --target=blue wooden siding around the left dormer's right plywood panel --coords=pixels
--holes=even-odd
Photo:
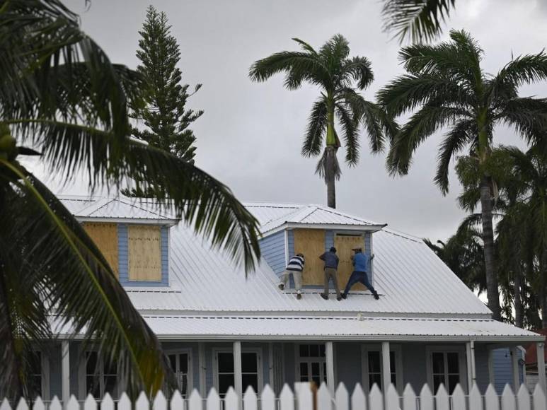
[[[161,235],[161,281],[129,281],[129,248],[127,245],[127,225],[117,225],[118,272],[122,286],[169,286],[169,228],[162,226]]]

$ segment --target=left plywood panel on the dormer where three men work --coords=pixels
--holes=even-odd
[[[295,229],[294,254],[304,254],[306,264],[302,273],[302,284],[322,285],[325,280],[323,261],[325,252],[325,231],[321,229]]]

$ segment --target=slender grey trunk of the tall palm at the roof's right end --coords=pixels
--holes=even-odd
[[[483,220],[484,264],[486,271],[486,295],[492,317],[501,320],[500,290],[497,286],[497,271],[494,255],[494,230],[492,223],[492,192],[490,178],[483,176],[480,181],[480,206]]]

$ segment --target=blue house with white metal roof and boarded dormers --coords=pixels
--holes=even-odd
[[[246,277],[209,242],[152,203],[124,198],[63,197],[96,241],[135,307],[157,334],[178,377],[180,391],[211,387],[222,395],[249,385],[276,392],[287,382],[325,381],[330,389],[425,383],[451,391],[495,382],[496,361],[518,385],[519,347],[534,343],[543,357],[544,336],[491,319],[490,310],[420,238],[324,206],[249,203],[261,225],[260,266]],[[330,246],[340,256],[340,282],[351,271],[356,245],[374,254],[374,300],[354,288],[346,300],[323,300],[317,258]],[[287,258],[306,255],[304,297],[277,287]],[[40,358],[40,386],[53,395],[114,397],[123,389],[115,366],[98,363],[77,339]],[[496,356],[500,348],[505,352]],[[503,350],[501,350],[504,352]],[[498,380],[499,381],[499,380]],[[543,381],[544,383],[544,381]],[[240,396],[241,397],[241,396]]]

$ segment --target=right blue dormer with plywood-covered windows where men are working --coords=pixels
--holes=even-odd
[[[270,206],[275,208],[275,205]],[[352,249],[360,247],[369,256],[374,254],[372,235],[386,226],[323,206],[280,205],[277,210],[280,216],[275,216],[271,209],[260,211],[258,205],[250,206],[250,209],[263,222],[260,249],[266,262],[280,275],[292,255],[304,254],[306,264],[302,279],[304,287],[308,288],[323,286],[323,262],[318,257],[332,246],[340,258],[338,281],[343,286],[353,270]],[[261,215],[268,213],[275,217],[264,221]],[[374,264],[371,264],[369,276],[374,285]],[[355,290],[366,289],[359,285]]]

